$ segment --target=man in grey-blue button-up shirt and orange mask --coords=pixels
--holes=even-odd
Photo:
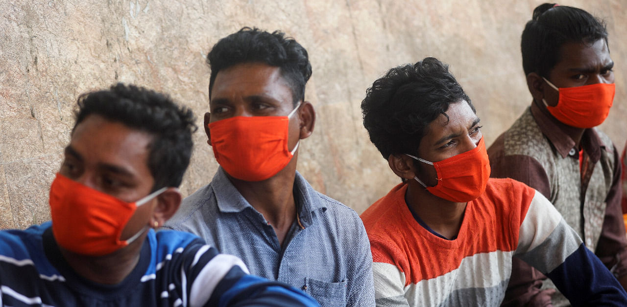
[[[296,171],[298,144],[315,123],[303,101],[307,51],[279,31],[244,28],[220,39],[208,63],[204,128],[220,167],[166,226],[198,234],[322,306],[374,306],[361,219]]]

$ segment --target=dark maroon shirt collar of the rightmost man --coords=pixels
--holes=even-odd
[[[568,134],[564,133],[564,131],[553,122],[553,119],[542,112],[535,103],[532,103],[530,108],[535,123],[538,124],[542,134],[549,139],[549,142],[556,148],[557,152],[561,154],[562,158],[566,158],[571,149],[575,148],[575,141],[573,141]],[[599,138],[599,135],[596,133],[596,128],[590,128],[584,130],[584,134],[581,136],[581,146],[592,162],[596,163],[596,161],[599,161],[601,158],[601,147],[605,148],[606,144]],[[579,149],[576,148],[576,150],[578,151]]]

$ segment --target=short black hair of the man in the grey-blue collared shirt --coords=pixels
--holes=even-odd
[[[294,105],[305,99],[305,83],[312,75],[307,50],[293,38],[285,38],[281,31],[268,33],[248,27],[220,39],[209,51],[209,99],[219,71],[243,63],[263,63],[280,68],[281,75],[292,89]]]

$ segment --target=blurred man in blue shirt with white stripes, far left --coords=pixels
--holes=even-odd
[[[189,109],[123,84],[78,107],[52,221],[0,231],[0,306],[318,306],[192,234],[152,229],[181,203]]]

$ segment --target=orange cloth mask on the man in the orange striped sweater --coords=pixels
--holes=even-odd
[[[429,162],[410,154],[408,156],[433,165],[436,171],[436,179],[438,179],[436,186],[426,186],[418,179],[418,176],[414,177],[414,179],[431,194],[448,201],[466,203],[478,198],[485,191],[488,178],[490,178],[490,161],[488,161],[488,153],[485,150],[483,136],[479,140],[477,147],[442,161]]]

